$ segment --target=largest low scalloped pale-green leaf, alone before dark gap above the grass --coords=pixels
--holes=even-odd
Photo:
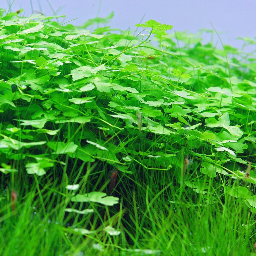
[[[96,202],[109,206],[117,204],[118,200],[118,197],[107,196],[107,194],[103,192],[91,192],[84,195],[76,195],[71,198],[72,202]]]

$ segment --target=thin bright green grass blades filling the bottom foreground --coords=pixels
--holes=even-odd
[[[61,190],[56,182],[49,182],[40,192],[36,184],[31,190],[21,188],[26,196],[20,197],[16,214],[10,204],[1,207],[1,254],[252,255],[255,214],[248,212],[243,200],[226,195],[222,185],[217,190],[210,188],[216,191],[215,197],[206,194],[186,199],[190,189],[181,186],[176,191],[169,185],[160,191],[149,178],[151,184],[140,188],[136,196],[131,190],[131,197],[124,197],[119,209],[92,206],[103,226],[110,221],[122,230],[114,238],[102,233],[103,227],[96,225],[97,217],[89,223],[97,234],[72,232],[70,226],[88,226],[88,218],[65,215],[65,196],[55,192]],[[10,191],[4,193],[10,196]],[[171,201],[174,198],[176,201]]]

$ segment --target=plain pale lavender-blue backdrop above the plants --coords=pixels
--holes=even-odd
[[[0,0],[0,8],[8,10],[12,2]],[[256,0],[15,0],[11,11],[21,8],[24,16],[36,12],[46,16],[65,14],[66,18],[58,21],[72,20],[73,25],[82,25],[88,19],[107,17],[114,12],[108,26],[122,30],[135,30],[135,24],[153,19],[172,25],[172,32],[198,33],[202,28],[213,29],[211,21],[220,32],[222,42],[238,49],[243,41],[237,37],[256,36]],[[204,33],[203,43],[210,39],[210,34]],[[213,42],[221,47],[216,34]],[[249,45],[244,50],[251,52],[255,46]]]

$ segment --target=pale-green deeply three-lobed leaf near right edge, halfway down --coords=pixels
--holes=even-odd
[[[222,116],[219,117],[219,121],[217,121],[215,118],[207,118],[205,119],[205,123],[207,127],[223,127],[230,132],[230,134],[234,136],[241,137],[243,135],[243,132],[237,127],[237,126],[229,126],[229,114],[228,112],[225,112]]]

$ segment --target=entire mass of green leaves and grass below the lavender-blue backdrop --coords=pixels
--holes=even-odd
[[[1,255],[253,251],[255,53],[0,15]]]

